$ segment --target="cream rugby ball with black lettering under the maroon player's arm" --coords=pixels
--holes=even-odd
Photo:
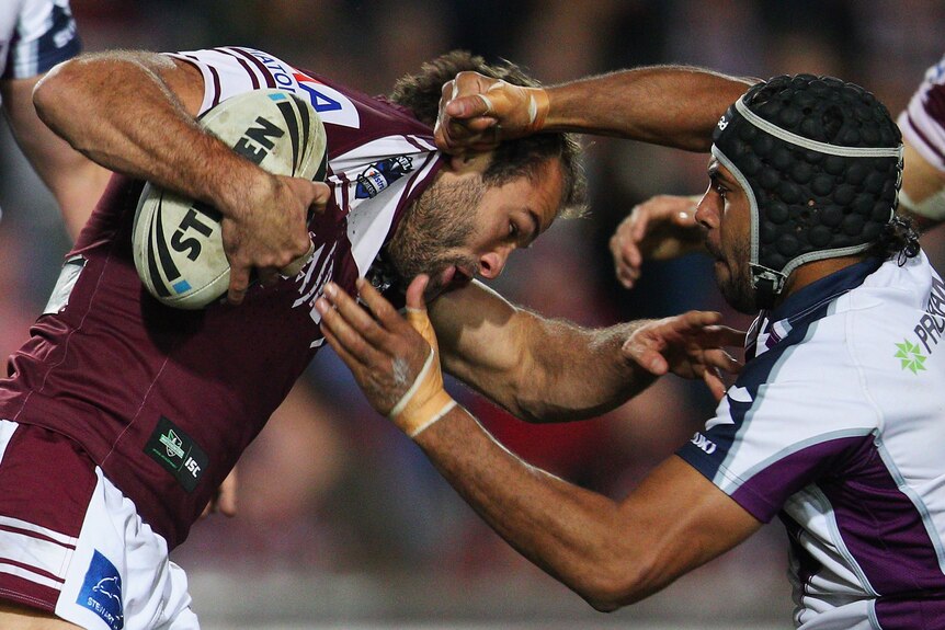
[[[276,175],[323,180],[326,136],[307,101],[282,90],[255,90],[223,101],[201,125],[234,151]],[[229,286],[221,215],[207,204],[147,183],[132,230],[135,268],[162,303],[200,309]]]

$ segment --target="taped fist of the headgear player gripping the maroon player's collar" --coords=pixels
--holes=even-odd
[[[459,72],[443,84],[433,131],[436,146],[454,154],[494,149],[502,140],[539,131],[548,105],[548,94],[540,88]]]

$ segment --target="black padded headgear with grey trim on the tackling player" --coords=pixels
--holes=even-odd
[[[899,128],[876,98],[831,77],[775,77],[721,117],[713,156],[751,208],[751,277],[770,308],[798,266],[873,245],[896,209]]]

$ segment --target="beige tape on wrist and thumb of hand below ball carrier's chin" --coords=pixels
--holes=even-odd
[[[425,309],[407,309],[407,321],[430,344],[430,354],[413,385],[390,410],[388,416],[410,437],[417,437],[456,406],[443,389],[436,333]]]

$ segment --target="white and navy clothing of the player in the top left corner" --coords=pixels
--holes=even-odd
[[[0,2],[0,78],[42,75],[79,48],[68,0]]]

